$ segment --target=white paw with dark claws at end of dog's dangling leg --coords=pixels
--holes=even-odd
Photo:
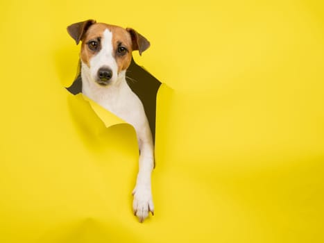
[[[137,185],[133,190],[133,211],[142,223],[148,217],[149,212],[154,215],[153,199],[150,187]]]

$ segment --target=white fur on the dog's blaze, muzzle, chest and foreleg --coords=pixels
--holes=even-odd
[[[83,62],[81,64],[82,92],[135,128],[140,155],[139,172],[133,191],[133,210],[142,222],[148,217],[148,212],[154,210],[151,193],[151,172],[154,166],[153,139],[142,102],[126,83],[126,72],[122,71],[117,75],[117,62],[112,53],[112,33],[106,29],[101,40],[101,50],[89,60],[90,67]],[[110,84],[106,86],[95,82],[97,72],[103,66],[110,67],[113,73]]]

